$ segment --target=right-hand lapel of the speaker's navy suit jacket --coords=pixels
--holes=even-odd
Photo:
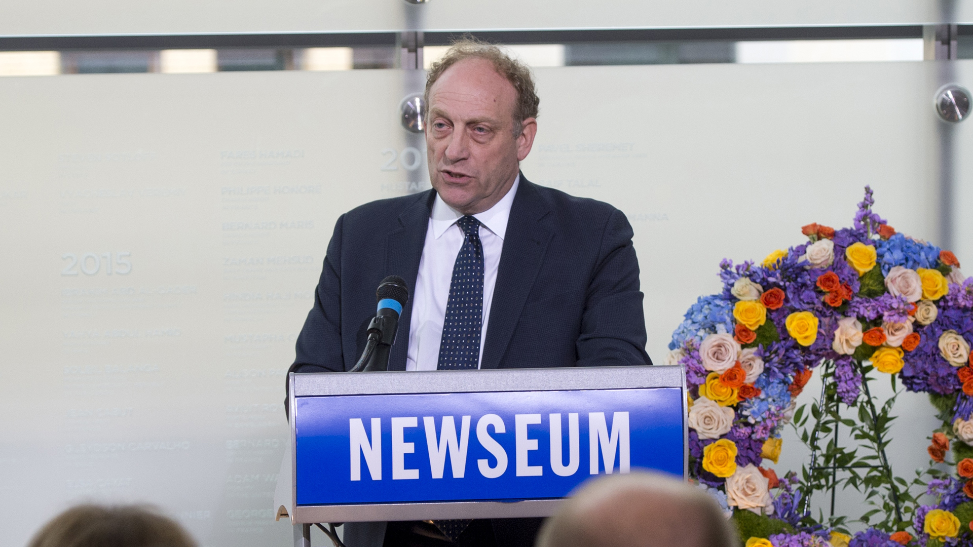
[[[523,178],[510,208],[507,233],[486,323],[483,369],[495,369],[507,351],[553,234],[540,224],[551,211],[537,188]]]

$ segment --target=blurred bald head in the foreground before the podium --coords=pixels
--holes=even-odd
[[[586,483],[548,519],[536,547],[736,547],[716,501],[655,473]]]

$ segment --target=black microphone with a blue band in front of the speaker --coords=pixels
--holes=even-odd
[[[399,316],[409,302],[406,280],[389,275],[381,280],[376,291],[378,310],[368,325],[368,340],[358,362],[349,372],[373,372],[388,370],[388,354],[395,344],[399,330]]]

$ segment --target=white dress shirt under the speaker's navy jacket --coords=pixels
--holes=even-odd
[[[493,287],[496,286],[503,237],[507,234],[510,206],[514,203],[520,184],[521,175],[518,174],[514,186],[506,196],[486,211],[473,215],[482,225],[480,241],[484,247],[484,318],[478,367],[484,358],[486,320],[493,301]],[[409,321],[407,371],[434,371],[439,365],[439,346],[443,338],[446,305],[450,299],[452,267],[465,238],[463,231],[456,226],[456,220],[462,216],[463,213],[446,204],[439,194],[436,195],[426,228],[425,243],[422,245],[419,273],[415,278],[413,315]]]

